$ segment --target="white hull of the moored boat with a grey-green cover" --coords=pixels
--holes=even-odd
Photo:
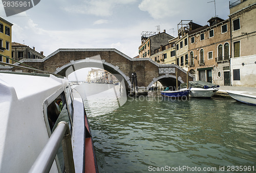
[[[211,97],[215,95],[218,90],[218,88],[190,88],[189,95],[191,97]]]

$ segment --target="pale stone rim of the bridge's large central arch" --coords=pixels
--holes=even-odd
[[[105,60],[101,60],[100,56],[94,56],[92,58],[86,58],[76,61],[71,60],[69,63],[56,68],[54,74],[68,77],[72,72],[87,67],[95,67],[107,70],[112,73],[112,75],[114,75],[120,82],[124,80],[126,89],[130,88],[131,86],[130,78],[127,77],[125,73],[119,69],[118,66],[106,62]]]

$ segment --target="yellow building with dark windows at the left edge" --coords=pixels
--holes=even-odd
[[[12,53],[12,26],[12,23],[0,17],[0,61],[6,63],[13,63],[12,60],[6,58],[11,58]]]

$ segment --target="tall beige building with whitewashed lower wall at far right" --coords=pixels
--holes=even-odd
[[[256,86],[256,1],[229,3],[231,25],[231,84]]]

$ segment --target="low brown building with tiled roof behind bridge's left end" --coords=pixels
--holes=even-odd
[[[12,42],[12,58],[16,61],[21,59],[43,59],[44,52],[36,52],[35,47],[31,48],[25,44]]]

